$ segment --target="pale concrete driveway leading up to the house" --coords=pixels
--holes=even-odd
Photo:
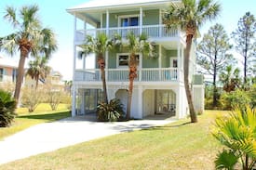
[[[98,123],[95,117],[78,116],[46,124],[37,124],[11,137],[0,140],[0,164],[35,154],[106,137],[122,132],[174,122],[175,119]]]

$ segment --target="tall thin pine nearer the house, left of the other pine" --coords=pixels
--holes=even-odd
[[[218,90],[217,77],[225,67],[232,62],[233,56],[227,54],[232,46],[229,38],[221,24],[216,24],[209,28],[209,32],[204,35],[203,40],[197,47],[197,63],[201,67],[201,72],[212,76],[213,98],[212,107],[217,107]]]

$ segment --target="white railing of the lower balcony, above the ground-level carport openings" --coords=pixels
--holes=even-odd
[[[106,69],[108,82],[128,82],[128,69]],[[150,68],[138,69],[136,82],[173,82],[182,80],[182,73],[177,68]],[[181,75],[181,76],[180,76]],[[74,81],[99,82],[101,72],[99,69],[76,70]]]

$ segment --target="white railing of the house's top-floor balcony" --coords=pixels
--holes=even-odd
[[[142,33],[146,33],[150,38],[160,38],[160,37],[177,37],[181,36],[177,29],[177,27],[173,27],[168,29],[165,25],[144,25],[140,29],[140,26],[133,27],[115,27],[109,28],[108,33],[109,36],[113,36],[115,33],[120,34],[122,37],[127,37],[127,34],[133,32],[136,35],[140,34],[140,30]],[[102,29],[89,29],[89,30],[77,30],[75,32],[75,41],[83,42],[85,40],[86,35],[95,36],[97,33],[107,33],[106,28]]]

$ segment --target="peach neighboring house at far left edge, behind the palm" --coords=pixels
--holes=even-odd
[[[0,86],[10,87],[16,83],[18,63],[11,59],[0,57]]]

